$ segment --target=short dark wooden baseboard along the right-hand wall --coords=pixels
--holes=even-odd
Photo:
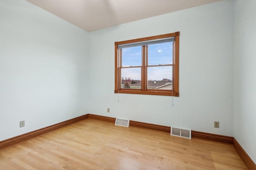
[[[236,141],[234,138],[234,149],[236,150],[237,154],[240,156],[244,164],[249,170],[256,170],[256,164],[252,161],[250,156],[244,151],[241,145]]]

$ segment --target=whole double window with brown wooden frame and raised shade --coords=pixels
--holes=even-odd
[[[115,42],[115,93],[179,96],[179,36]]]

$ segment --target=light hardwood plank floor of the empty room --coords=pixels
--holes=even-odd
[[[0,150],[0,170],[244,170],[232,145],[86,119]]]

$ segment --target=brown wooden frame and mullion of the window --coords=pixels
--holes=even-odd
[[[154,39],[175,37],[173,41],[173,62],[172,62],[172,90],[154,90],[147,89],[146,80],[147,80],[147,61],[145,58],[142,58],[142,80],[141,80],[141,89],[130,89],[130,88],[121,88],[121,69],[120,62],[118,59],[118,45],[136,43],[140,41],[149,41]],[[125,93],[125,94],[148,94],[148,95],[162,95],[162,96],[180,96],[179,93],[179,41],[180,41],[180,32],[168,33],[164,35],[156,35],[152,37],[145,37],[139,39],[132,39],[127,41],[115,42],[115,93]],[[142,53],[146,53],[146,46],[142,46]],[[142,55],[143,56],[143,55]],[[118,64],[119,62],[119,64]]]

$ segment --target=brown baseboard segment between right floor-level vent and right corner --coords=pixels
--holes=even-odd
[[[191,131],[191,137],[197,139],[203,139],[207,141],[214,141],[220,143],[226,143],[233,145],[233,137],[224,136],[224,135],[216,135],[212,133],[204,133],[198,131]]]

